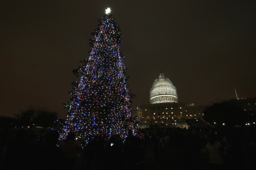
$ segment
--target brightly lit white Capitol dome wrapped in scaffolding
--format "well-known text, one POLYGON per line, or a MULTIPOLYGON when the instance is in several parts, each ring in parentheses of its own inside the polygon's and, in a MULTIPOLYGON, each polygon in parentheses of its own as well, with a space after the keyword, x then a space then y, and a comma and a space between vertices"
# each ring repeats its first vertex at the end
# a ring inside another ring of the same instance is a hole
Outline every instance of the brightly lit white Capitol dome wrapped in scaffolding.
POLYGON ((176 87, 161 72, 150 89, 150 104, 178 102, 176 87))

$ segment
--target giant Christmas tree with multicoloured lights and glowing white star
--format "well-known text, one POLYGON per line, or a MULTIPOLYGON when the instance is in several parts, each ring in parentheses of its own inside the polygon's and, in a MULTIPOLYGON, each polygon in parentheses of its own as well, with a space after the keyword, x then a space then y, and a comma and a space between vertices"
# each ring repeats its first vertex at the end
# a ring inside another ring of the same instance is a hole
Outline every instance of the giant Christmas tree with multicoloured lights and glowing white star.
POLYGON ((100 24, 90 38, 89 59, 73 73, 82 75, 73 82, 70 100, 64 105, 68 115, 61 134, 69 132, 88 144, 94 136, 107 140, 113 132, 126 137, 133 129, 131 101, 124 56, 120 51, 119 26, 114 22, 110 8, 100 19, 100 24))

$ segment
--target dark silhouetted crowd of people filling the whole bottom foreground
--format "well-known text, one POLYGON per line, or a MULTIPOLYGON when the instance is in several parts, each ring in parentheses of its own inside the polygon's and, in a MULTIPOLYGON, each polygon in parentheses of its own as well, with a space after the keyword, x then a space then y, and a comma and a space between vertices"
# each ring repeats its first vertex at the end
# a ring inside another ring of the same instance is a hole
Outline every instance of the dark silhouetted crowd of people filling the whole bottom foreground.
POLYGON ((112 133, 108 141, 94 137, 86 146, 70 133, 59 143, 59 132, 50 130, 29 133, 24 129, 8 137, 1 134, 1 168, 3 170, 73 170, 75 163, 82 170, 143 170, 147 160, 145 148, 154 153, 155 164, 180 157, 187 170, 203 170, 201 157, 208 157, 212 170, 254 169, 256 166, 255 129, 211 127, 163 127, 151 125, 128 131, 122 139, 112 133), (4 146, 4 147, 3 147, 4 146), (82 147, 83 146, 83 147, 82 147), (147 146, 147 147, 146 147, 147 146), (77 162, 77 155, 81 161, 77 162))

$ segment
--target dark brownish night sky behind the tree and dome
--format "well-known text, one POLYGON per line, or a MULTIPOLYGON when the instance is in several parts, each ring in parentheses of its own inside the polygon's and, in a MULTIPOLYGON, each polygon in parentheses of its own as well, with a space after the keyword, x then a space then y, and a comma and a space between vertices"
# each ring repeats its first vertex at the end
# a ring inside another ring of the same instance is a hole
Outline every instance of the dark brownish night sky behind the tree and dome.
POLYGON ((67 114, 73 68, 110 7, 133 107, 162 70, 179 102, 256 97, 255 0, 0 0, 0 115, 29 106, 67 114))

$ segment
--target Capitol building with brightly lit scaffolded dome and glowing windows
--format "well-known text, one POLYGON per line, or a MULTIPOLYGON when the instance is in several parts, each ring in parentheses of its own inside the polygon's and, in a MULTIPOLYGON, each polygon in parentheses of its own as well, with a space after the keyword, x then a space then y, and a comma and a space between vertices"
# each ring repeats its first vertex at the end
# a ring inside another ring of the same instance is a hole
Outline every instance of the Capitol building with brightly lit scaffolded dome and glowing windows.
POLYGON ((149 102, 132 110, 142 125, 186 127, 186 119, 200 119, 206 107, 178 102, 176 87, 162 72, 150 89, 149 102))

